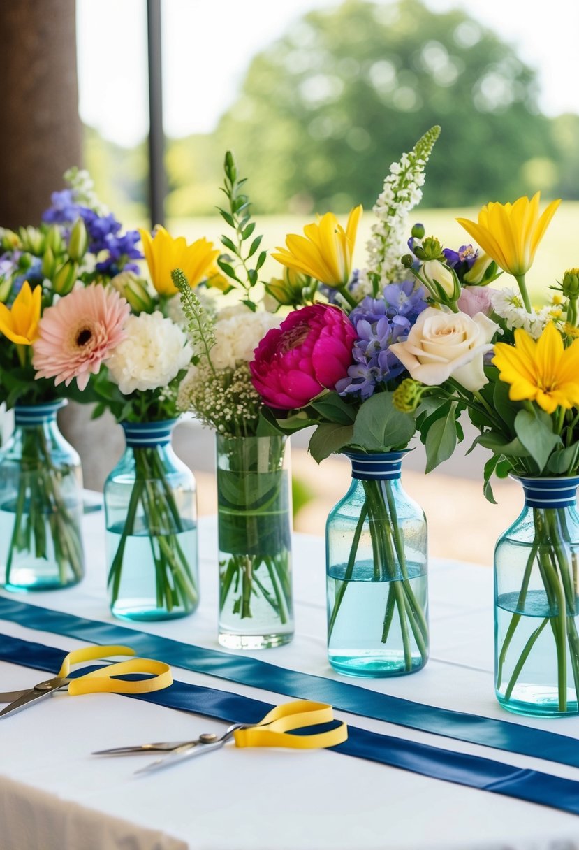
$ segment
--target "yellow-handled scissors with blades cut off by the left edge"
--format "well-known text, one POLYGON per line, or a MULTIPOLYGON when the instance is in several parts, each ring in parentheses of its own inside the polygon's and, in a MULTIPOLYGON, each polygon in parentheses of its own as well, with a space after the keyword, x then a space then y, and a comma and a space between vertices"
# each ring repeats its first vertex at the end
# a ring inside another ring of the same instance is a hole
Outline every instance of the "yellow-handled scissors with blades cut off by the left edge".
POLYGON ((58 674, 45 682, 39 682, 31 688, 0 694, 0 702, 9 702, 0 717, 8 717, 23 708, 34 706, 37 702, 52 696, 59 690, 68 689, 71 696, 77 694, 143 694, 145 691, 155 691, 168 688, 172 683, 171 669, 162 661, 149 658, 135 658, 129 661, 119 661, 116 664, 106 664, 98 670, 85 673, 82 676, 69 678, 70 666, 82 661, 108 658, 110 655, 135 655, 134 649, 128 646, 87 646, 75 649, 66 655, 58 674), (127 682, 118 679, 124 673, 152 673, 152 678, 127 682))

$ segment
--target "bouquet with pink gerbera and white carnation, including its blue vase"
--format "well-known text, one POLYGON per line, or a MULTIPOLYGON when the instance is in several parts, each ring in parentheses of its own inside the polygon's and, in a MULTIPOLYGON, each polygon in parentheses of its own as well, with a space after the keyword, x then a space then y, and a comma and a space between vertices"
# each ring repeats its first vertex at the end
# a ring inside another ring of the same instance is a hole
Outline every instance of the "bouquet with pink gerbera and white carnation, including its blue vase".
POLYGON ((138 232, 120 235, 121 225, 76 183, 53 195, 45 218, 63 230, 81 222, 93 263, 75 268, 69 291, 42 314, 36 376, 64 385, 72 399, 95 402, 94 416, 110 410, 126 435, 104 488, 111 609, 131 619, 187 614, 199 598, 195 489, 170 441, 192 352, 164 313, 171 300, 166 262, 169 254, 168 262, 187 265, 194 285, 216 252, 205 240, 187 246, 162 229, 155 239, 143 233, 153 288, 132 263, 142 257, 138 232))

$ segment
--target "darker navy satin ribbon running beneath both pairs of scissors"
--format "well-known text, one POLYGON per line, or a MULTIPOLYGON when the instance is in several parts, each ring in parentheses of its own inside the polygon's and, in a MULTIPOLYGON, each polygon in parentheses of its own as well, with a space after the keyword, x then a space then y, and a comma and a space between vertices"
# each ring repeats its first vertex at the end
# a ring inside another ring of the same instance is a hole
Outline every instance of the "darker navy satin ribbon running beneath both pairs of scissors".
MULTIPOLYGON (((54 673, 59 671, 65 655, 64 649, 54 649, 42 643, 30 643, 20 638, 0 635, 2 660, 54 673)), ((123 696, 212 717, 226 723, 257 723, 273 708, 261 700, 252 700, 213 688, 201 688, 199 685, 185 682, 174 682, 170 688, 150 694, 123 696)), ((0 720, 0 723, 7 722, 0 720)), ((91 741, 90 745, 98 744, 91 741)), ((368 732, 350 725, 348 740, 329 751, 379 762, 392 768, 402 768, 431 779, 441 779, 456 785, 466 785, 480 791, 491 791, 493 794, 579 814, 579 782, 536 770, 516 768, 489 758, 442 750, 419 744, 417 741, 368 732)))

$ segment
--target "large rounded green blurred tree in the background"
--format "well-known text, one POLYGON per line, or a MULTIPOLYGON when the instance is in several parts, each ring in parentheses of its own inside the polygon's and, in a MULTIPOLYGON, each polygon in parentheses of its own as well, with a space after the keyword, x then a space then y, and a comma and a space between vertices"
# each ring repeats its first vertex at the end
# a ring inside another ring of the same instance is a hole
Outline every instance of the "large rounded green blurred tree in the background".
POLYGON ((441 124, 424 203, 506 201, 528 191, 533 161, 554 183, 536 94, 534 71, 462 11, 346 0, 252 60, 216 140, 245 163, 261 211, 340 211, 369 207, 390 162, 441 124))

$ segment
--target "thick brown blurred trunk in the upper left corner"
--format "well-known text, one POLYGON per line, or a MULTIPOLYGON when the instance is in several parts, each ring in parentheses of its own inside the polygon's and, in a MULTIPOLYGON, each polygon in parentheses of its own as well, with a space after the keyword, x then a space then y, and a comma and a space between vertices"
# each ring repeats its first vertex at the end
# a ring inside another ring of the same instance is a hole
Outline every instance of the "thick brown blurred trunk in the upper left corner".
POLYGON ((71 165, 81 164, 75 0, 0 3, 0 223, 39 224, 71 165))

